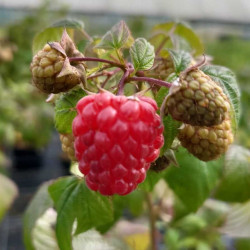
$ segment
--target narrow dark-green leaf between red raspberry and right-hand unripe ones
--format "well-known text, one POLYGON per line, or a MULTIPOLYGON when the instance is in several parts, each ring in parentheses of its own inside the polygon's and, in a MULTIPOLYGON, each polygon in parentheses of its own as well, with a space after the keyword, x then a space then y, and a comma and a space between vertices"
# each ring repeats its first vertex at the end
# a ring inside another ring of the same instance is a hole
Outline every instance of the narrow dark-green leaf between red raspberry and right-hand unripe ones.
POLYGON ((179 132, 179 127, 181 126, 181 122, 174 120, 170 115, 167 115, 163 119, 164 124, 164 145, 161 148, 161 153, 164 153, 167 149, 169 149, 175 137, 179 132))

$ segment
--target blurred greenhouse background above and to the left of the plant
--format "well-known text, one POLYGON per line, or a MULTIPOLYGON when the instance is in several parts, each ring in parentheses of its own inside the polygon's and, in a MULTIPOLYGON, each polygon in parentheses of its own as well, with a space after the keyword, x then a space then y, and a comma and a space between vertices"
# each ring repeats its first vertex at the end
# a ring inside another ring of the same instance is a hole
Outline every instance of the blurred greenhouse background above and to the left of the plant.
MULTIPOLYGON (((68 174, 69 162, 53 128, 53 107, 30 84, 29 71, 33 37, 65 17, 83 21, 90 35, 99 36, 123 19, 134 37, 146 38, 155 24, 187 22, 213 63, 236 73, 242 91, 236 143, 250 148, 249 1, 0 0, 0 173, 14 180, 19 190, 0 224, 1 250, 24 249, 21 216, 27 203, 42 182, 68 174)), ((11 190, 15 196, 17 190, 11 190)), ((227 249, 235 248, 229 244, 227 249)))

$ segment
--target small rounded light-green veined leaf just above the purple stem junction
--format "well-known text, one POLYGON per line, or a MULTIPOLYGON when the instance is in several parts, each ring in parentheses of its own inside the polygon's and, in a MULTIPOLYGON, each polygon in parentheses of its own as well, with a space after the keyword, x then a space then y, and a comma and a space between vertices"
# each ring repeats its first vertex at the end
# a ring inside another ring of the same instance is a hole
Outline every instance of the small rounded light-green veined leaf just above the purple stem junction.
POLYGON ((130 56, 135 71, 150 69, 154 64, 154 46, 144 38, 137 38, 130 48, 130 56))

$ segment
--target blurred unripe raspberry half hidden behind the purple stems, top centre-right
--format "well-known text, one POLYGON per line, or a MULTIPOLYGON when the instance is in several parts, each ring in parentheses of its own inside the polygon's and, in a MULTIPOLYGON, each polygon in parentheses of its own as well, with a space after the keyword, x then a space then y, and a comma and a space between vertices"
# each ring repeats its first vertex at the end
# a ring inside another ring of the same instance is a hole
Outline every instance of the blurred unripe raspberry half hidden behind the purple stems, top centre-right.
POLYGON ((165 80, 173 72, 175 72, 173 60, 171 57, 167 57, 155 59, 153 68, 145 74, 148 77, 165 80))

